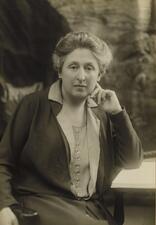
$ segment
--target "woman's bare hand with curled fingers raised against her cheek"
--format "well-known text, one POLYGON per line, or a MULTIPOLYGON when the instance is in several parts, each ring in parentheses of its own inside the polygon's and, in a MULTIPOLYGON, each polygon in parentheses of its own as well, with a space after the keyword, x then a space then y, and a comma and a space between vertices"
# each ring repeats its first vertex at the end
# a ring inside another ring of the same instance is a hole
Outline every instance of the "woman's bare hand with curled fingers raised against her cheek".
POLYGON ((103 89, 98 83, 90 97, 95 99, 96 103, 100 105, 107 113, 117 114, 122 111, 115 92, 112 90, 103 89))

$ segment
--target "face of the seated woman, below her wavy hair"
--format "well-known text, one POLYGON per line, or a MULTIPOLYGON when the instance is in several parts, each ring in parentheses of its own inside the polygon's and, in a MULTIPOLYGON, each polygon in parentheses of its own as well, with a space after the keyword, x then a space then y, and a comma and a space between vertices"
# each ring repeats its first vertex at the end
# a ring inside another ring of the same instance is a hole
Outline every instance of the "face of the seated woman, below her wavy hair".
POLYGON ((65 99, 84 100, 100 79, 99 65, 89 49, 78 48, 65 58, 62 71, 62 93, 65 99))

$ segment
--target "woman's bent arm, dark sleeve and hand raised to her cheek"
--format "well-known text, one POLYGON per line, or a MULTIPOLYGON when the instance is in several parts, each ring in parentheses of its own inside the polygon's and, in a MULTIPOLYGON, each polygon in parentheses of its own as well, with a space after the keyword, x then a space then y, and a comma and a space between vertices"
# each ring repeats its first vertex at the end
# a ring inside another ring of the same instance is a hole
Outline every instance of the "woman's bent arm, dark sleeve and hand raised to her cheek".
POLYGON ((116 93, 102 89, 97 84, 91 97, 96 98, 98 105, 103 108, 111 120, 115 164, 123 168, 139 167, 143 159, 142 145, 116 93))

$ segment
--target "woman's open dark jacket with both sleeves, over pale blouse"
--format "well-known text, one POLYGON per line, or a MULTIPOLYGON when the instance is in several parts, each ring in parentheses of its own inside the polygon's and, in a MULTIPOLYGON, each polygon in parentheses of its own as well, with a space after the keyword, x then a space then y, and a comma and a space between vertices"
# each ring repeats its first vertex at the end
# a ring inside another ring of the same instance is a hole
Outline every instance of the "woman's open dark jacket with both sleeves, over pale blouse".
MULTIPOLYGON (((25 97, 17 107, 0 144, 0 208, 16 203, 19 194, 41 193, 73 197, 69 152, 60 132, 57 102, 48 90, 25 97)), ((142 160, 140 140, 125 110, 108 115, 92 108, 100 119, 100 162, 97 195, 111 185, 121 168, 142 160)))

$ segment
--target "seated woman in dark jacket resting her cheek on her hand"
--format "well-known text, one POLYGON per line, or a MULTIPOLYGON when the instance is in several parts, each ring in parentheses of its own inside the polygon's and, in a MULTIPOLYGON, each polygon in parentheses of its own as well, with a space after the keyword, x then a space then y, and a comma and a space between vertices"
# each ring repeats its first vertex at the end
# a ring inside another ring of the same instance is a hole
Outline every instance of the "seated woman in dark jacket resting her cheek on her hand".
POLYGON ((89 33, 59 41, 59 79, 21 101, 1 141, 0 224, 18 224, 16 204, 36 210, 38 225, 113 224, 103 196, 142 149, 115 92, 98 84, 111 59, 89 33))

